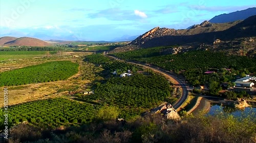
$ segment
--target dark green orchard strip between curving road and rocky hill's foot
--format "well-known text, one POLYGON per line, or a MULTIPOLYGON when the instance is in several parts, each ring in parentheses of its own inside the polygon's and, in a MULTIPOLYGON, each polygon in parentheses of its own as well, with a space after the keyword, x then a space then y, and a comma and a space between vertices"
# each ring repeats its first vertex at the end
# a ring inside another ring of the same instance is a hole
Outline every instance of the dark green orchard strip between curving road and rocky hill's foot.
MULTIPOLYGON (((157 52, 150 52, 158 48, 135 50, 116 53, 118 58, 152 63, 167 70, 180 71, 195 68, 247 68, 256 71, 256 59, 247 56, 227 55, 224 52, 191 51, 183 54, 168 54, 157 56, 157 52)), ((158 50, 161 52, 161 50, 158 50)))

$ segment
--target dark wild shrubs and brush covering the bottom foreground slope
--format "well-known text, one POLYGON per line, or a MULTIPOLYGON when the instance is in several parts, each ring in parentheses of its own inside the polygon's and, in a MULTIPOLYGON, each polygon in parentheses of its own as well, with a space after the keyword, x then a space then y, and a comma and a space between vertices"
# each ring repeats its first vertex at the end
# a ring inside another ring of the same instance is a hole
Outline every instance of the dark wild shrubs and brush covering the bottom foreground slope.
MULTIPOLYGON (((107 110, 105 110, 107 111, 107 110)), ((182 122, 170 122, 161 115, 147 115, 131 122, 108 120, 81 127, 43 130, 20 125, 11 131, 9 143, 30 141, 66 143, 129 143, 129 142, 248 142, 256 141, 255 114, 234 117, 226 113, 215 116, 185 117, 182 122)))

